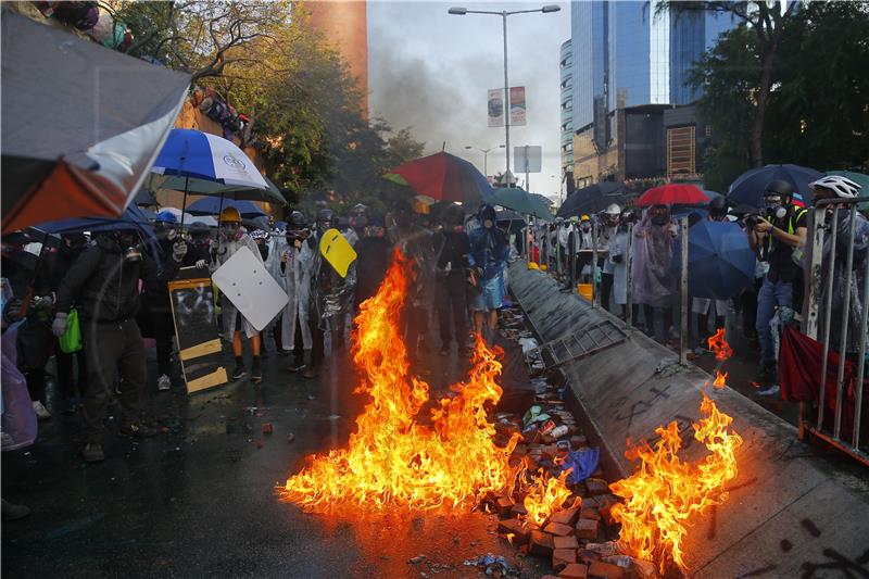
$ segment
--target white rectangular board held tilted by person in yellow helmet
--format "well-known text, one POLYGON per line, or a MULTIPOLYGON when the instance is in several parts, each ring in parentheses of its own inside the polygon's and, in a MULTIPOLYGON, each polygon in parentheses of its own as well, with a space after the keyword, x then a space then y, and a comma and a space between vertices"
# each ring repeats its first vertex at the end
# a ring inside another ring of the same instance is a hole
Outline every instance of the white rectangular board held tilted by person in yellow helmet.
POLYGON ((275 319, 289 301, 287 292, 248 248, 234 253, 214 272, 212 279, 256 331, 275 319))

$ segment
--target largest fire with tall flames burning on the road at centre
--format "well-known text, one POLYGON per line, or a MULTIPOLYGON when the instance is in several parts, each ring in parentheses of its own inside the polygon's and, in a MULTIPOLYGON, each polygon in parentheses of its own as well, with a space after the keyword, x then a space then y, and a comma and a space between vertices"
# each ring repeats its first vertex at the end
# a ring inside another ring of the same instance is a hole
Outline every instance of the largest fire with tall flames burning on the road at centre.
POLYGON ((368 508, 470 511, 490 491, 515 477, 508 464, 518 436, 494 444, 484 406, 501 399, 501 364, 478 338, 466 381, 424 412, 429 386, 412 376, 399 331, 407 278, 395 252, 377 294, 356 317, 353 360, 363 378, 357 392, 370 397, 347 449, 310 456, 307 466, 278 488, 281 499, 312 509, 335 504, 368 508), (426 416, 430 414, 430 416, 426 416))

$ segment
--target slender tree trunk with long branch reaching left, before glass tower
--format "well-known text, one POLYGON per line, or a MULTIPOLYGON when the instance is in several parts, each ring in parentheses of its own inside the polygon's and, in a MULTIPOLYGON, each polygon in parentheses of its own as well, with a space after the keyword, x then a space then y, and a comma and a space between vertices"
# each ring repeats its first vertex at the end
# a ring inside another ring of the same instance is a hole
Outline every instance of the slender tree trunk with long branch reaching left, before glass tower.
POLYGON ((764 165, 764 125, 767 117, 769 96, 774 78, 774 62, 781 38, 793 21, 798 2, 766 1, 665 1, 657 5, 657 14, 668 11, 678 17, 685 13, 722 12, 730 13, 748 25, 754 35, 754 52, 758 58, 759 75, 753 92, 753 111, 750 128, 750 159, 752 166, 764 165))

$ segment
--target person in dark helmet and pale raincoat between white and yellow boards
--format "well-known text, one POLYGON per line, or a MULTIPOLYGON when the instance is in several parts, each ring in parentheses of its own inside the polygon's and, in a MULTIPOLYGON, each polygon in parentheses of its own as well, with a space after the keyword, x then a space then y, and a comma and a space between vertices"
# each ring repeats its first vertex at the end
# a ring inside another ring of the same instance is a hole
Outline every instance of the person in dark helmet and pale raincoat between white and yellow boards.
POLYGON ((282 286, 289 297, 280 318, 281 348, 288 354, 295 351, 295 330, 299 329, 302 357, 290 364, 290 372, 303 369, 306 378, 314 377, 314 339, 308 322, 314 250, 306 243, 310 234, 304 214, 293 211, 287 222, 287 244, 280 256, 282 286))

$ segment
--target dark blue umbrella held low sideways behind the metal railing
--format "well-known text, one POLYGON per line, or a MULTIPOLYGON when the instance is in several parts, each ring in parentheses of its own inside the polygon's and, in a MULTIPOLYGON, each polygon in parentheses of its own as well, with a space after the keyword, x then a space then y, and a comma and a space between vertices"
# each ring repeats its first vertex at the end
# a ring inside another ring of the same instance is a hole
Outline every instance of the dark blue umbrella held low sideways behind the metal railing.
MULTIPOLYGON (((679 275, 681 238, 671 268, 679 275)), ((755 253, 734 223, 702 221, 688 230, 688 293, 728 300, 754 282, 755 253)))

